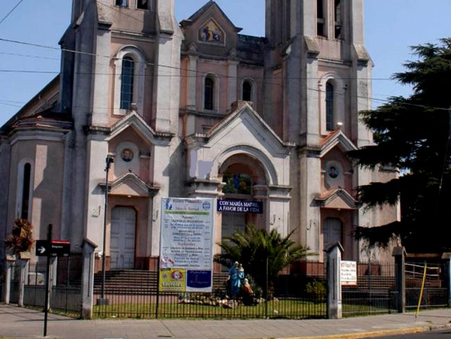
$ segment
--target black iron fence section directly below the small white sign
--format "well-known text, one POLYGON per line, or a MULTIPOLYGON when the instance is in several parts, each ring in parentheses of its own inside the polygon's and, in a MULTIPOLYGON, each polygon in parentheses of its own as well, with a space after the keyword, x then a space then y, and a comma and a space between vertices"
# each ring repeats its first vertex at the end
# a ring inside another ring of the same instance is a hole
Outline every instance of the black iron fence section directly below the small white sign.
POLYGON ((342 303, 345 317, 396 312, 395 264, 358 263, 357 285, 343 286, 342 303))

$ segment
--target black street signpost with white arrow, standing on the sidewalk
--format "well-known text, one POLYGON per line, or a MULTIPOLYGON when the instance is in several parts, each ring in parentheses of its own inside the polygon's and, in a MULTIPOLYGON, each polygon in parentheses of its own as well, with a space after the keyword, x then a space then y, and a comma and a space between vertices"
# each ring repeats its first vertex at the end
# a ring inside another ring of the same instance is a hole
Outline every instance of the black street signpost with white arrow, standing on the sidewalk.
POLYGON ((52 224, 49 224, 47 230, 47 240, 36 240, 36 256, 46 256, 46 289, 45 289, 45 306, 44 306, 44 337, 47 336, 47 318, 49 315, 49 295, 50 295, 50 258, 69 256, 71 243, 66 240, 52 240, 52 224))

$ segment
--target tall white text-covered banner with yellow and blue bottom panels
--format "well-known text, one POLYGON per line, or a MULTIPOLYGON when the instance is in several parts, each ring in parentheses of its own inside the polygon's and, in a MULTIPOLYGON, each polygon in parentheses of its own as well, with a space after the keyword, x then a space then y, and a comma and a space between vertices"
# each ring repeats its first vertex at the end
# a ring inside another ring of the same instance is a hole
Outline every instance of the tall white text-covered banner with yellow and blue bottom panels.
POLYGON ((212 292, 212 199, 162 198, 160 291, 212 292))

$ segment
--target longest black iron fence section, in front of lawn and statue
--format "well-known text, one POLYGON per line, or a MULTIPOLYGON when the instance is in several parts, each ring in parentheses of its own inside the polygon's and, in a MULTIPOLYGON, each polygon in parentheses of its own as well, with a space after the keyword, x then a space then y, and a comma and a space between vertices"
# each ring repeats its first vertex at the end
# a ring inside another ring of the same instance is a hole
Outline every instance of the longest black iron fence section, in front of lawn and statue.
MULTIPOLYGON (((227 274, 214 274, 213 292, 158 292, 156 272, 109 272, 105 284, 108 304, 94 306, 95 317, 137 318, 322 318, 326 316, 324 276, 304 279, 282 275, 272 297, 262 290, 236 299, 227 296, 227 274), (297 286, 296 292, 293 292, 297 286)), ((98 281, 98 280, 96 280, 98 281)), ((96 286, 99 286, 96 283, 96 286)), ((100 297, 96 287, 96 297, 100 297)))

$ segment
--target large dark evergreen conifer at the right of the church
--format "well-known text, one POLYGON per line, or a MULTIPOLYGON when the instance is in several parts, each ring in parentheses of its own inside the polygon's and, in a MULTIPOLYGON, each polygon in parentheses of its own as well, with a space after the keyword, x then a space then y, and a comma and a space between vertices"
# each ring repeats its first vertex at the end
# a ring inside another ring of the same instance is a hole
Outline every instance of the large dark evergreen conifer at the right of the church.
POLYGON ((411 47, 416 60, 393 75, 411 85, 409 97, 391 97, 375 110, 360 113, 373 131, 374 145, 351 151, 362 167, 395 167, 400 176, 386 183, 358 188, 368 207, 400 201, 401 221, 375 228, 357 227, 357 238, 370 245, 386 245, 400 238, 407 251, 449 249, 447 225, 451 206, 451 38, 439 44, 411 47))

